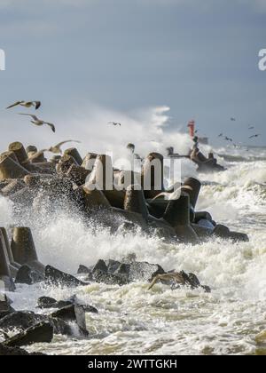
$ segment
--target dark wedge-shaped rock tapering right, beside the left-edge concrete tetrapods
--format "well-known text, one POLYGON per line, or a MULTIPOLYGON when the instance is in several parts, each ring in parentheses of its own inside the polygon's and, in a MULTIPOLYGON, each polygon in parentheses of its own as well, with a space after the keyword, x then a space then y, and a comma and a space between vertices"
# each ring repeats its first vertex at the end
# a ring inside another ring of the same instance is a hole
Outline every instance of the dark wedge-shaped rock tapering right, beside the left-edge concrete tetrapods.
POLYGON ((57 286, 86 286, 88 283, 78 280, 71 274, 65 274, 59 269, 54 268, 53 266, 45 267, 45 281, 49 284, 54 284, 57 286))

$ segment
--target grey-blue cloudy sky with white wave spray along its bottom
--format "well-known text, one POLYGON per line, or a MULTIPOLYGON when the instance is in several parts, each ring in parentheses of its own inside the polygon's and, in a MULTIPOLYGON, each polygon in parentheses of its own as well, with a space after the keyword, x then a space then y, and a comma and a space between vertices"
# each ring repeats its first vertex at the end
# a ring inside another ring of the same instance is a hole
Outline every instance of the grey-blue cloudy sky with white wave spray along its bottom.
POLYGON ((66 138, 84 150, 141 140, 179 149, 191 119, 211 143, 223 132, 266 145, 265 36, 266 0, 1 0, 0 150, 66 138), (56 134, 17 115, 23 107, 5 110, 20 99, 42 100, 38 115, 56 134))

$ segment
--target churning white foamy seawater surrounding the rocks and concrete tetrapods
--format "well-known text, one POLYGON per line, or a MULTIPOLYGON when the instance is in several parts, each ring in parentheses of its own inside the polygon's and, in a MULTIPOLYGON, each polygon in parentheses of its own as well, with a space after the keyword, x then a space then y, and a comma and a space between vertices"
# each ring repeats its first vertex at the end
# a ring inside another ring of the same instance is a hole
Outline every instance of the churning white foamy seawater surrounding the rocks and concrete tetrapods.
POLYGON ((205 294, 201 290, 172 291, 161 284, 148 291, 146 283, 123 287, 92 283, 73 290, 42 284, 20 286, 10 294, 16 309, 36 311, 36 300, 43 295, 64 299, 76 294, 99 311, 87 314, 89 340, 56 336, 51 345, 34 345, 28 350, 57 354, 266 353, 266 333, 262 333, 266 329, 266 160, 248 161, 224 161, 228 171, 200 175, 204 187, 198 210, 208 210, 216 221, 246 232, 250 242, 169 245, 140 232, 110 234, 93 222, 86 226, 74 210, 51 215, 31 211, 20 216, 0 197, 0 224, 31 226, 44 264, 74 274, 80 264, 91 266, 98 258, 120 259, 134 252, 138 260, 159 263, 165 270, 193 272, 212 288, 211 294, 205 294))

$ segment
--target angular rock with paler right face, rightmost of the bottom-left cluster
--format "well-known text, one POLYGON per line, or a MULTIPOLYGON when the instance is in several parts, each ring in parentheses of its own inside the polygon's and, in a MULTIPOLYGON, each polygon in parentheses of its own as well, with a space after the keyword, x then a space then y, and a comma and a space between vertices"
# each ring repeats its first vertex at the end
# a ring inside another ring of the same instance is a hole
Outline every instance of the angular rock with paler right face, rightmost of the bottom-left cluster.
POLYGON ((77 323, 80 333, 84 337, 89 336, 89 332, 86 329, 85 313, 82 306, 66 306, 59 309, 59 311, 51 313, 51 317, 62 319, 63 321, 74 321, 77 323))

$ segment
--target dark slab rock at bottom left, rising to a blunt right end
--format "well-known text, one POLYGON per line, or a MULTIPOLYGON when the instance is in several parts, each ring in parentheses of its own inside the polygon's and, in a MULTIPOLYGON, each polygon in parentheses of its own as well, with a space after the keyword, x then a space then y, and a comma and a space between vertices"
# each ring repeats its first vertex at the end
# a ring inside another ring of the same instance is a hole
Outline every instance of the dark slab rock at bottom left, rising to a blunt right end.
POLYGON ((20 347, 35 343, 51 343, 53 338, 53 325, 50 322, 40 322, 35 326, 4 341, 4 345, 20 347))

